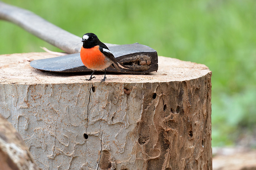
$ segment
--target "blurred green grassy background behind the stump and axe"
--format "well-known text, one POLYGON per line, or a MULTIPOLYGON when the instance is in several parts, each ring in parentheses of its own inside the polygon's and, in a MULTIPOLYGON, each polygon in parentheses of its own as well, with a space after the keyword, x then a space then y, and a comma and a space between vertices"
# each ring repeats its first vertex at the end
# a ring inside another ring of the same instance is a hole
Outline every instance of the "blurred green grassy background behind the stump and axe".
MULTIPOLYGON (((212 70, 212 146, 256 147, 254 0, 2 0, 82 37, 141 43, 212 70)), ((59 49, 0 21, 0 54, 59 49)))

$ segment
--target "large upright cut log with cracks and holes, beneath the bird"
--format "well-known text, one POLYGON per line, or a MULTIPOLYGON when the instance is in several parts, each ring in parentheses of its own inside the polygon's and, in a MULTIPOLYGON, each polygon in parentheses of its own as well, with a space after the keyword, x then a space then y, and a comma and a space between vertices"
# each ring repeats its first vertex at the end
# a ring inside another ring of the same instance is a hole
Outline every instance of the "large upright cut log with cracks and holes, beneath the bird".
POLYGON ((38 166, 83 170, 212 169, 211 71, 159 57, 146 75, 42 72, 48 53, 0 56, 0 113, 38 166))

